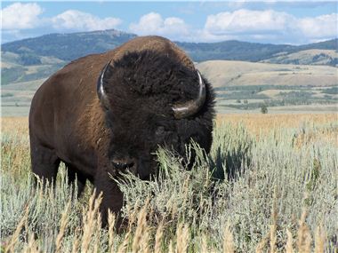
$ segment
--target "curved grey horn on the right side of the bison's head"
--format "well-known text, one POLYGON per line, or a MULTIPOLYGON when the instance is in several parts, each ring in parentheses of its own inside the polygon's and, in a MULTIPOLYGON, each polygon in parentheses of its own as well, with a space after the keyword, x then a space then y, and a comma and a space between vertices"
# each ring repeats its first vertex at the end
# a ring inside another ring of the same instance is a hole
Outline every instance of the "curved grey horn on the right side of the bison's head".
POLYGON ((189 117, 191 115, 196 115, 201 107, 205 104, 205 82, 203 82, 201 74, 197 70, 198 80, 199 80, 199 91, 197 99, 190 100, 185 104, 174 105, 173 106, 173 115, 176 119, 182 119, 189 117))

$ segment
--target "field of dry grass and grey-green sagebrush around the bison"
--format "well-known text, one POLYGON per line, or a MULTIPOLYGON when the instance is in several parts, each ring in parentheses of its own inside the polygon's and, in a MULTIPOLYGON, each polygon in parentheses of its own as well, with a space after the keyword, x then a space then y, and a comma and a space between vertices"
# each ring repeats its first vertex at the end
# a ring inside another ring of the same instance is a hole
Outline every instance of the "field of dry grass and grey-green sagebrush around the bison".
POLYGON ((65 170, 55 190, 33 187, 28 119, 2 118, 2 251, 337 252, 337 114, 219 115, 211 154, 190 148, 190 171, 160 149, 158 178, 125 176, 117 233, 65 170))

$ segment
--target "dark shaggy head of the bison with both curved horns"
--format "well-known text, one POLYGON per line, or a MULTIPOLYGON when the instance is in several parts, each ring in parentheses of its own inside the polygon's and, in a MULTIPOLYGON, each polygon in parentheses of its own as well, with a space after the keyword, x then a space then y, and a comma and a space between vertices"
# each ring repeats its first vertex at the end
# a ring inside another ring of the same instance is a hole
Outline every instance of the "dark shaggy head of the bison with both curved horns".
POLYGON ((98 95, 111 130, 108 155, 115 169, 149 178, 156 172, 158 146, 183 155, 191 139, 209 152, 212 88, 196 69, 174 57, 127 53, 102 69, 98 95))

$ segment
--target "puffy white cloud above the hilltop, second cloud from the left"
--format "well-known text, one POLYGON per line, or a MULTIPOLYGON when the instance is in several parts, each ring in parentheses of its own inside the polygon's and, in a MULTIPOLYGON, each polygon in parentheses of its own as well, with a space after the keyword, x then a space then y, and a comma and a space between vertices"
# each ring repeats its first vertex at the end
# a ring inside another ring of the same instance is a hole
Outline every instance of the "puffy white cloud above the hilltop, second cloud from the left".
POLYGON ((117 18, 104 18, 86 12, 68 10, 52 18, 52 27, 59 30, 91 31, 116 28, 122 20, 117 18))

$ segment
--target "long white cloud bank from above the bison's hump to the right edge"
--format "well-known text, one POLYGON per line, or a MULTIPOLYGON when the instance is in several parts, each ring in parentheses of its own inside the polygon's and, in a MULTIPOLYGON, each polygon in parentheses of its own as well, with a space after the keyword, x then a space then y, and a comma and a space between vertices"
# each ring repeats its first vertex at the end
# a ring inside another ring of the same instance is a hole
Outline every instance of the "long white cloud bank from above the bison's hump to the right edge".
POLYGON ((173 40, 217 42, 223 40, 262 43, 310 43, 337 35, 337 14, 297 18, 274 10, 239 9, 207 16, 204 28, 192 29, 179 18, 163 18, 150 12, 129 26, 133 33, 166 36, 173 40))

